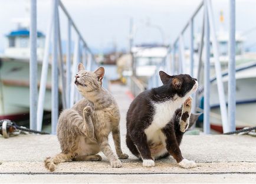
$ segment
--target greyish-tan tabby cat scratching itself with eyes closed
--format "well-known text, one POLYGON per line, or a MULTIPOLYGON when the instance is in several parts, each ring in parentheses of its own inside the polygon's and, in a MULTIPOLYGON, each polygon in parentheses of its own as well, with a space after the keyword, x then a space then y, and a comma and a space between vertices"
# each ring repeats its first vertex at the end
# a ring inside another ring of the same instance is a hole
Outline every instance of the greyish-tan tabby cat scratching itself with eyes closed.
POLYGON ((57 136, 61 153, 45 159, 45 167, 55 170, 58 163, 68 160, 101 160, 100 151, 110 160, 112 167, 121 167, 119 159, 127 159, 120 146, 120 113, 114 97, 102 87, 104 68, 90 72, 78 65, 74 83, 83 99, 71 109, 64 110, 58 119, 57 136), (112 133, 116 154, 109 145, 112 133))

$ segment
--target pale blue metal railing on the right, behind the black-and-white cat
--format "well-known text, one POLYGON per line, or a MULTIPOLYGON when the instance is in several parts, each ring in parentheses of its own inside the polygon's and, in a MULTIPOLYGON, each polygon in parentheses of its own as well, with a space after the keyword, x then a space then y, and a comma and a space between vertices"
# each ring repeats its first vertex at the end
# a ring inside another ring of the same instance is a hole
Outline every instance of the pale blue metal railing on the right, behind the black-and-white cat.
MULTIPOLYGON (((201 70, 202 70, 202 51, 203 47, 205 50, 205 58, 204 58, 204 133, 210 133, 210 122, 209 122, 209 113, 210 113, 210 36, 212 38, 212 49, 214 54, 214 65, 215 65, 215 73, 216 73, 216 81, 218 86, 218 95, 219 95, 219 104, 221 109, 221 119, 224 133, 231 132, 235 130, 235 0, 229 0, 229 79, 228 79, 228 111, 225 101, 224 95, 224 84, 222 82, 222 71, 221 64, 219 61, 219 47, 216 38, 215 24, 214 24, 214 14, 212 11, 212 3, 211 0, 202 1, 198 8, 196 8, 195 12, 193 12, 192 16, 189 18, 185 27, 179 33, 176 40, 173 44, 170 45, 168 49, 168 54, 165 57, 165 62, 162 63, 159 67, 157 67, 157 73, 153 75, 148 83, 149 87, 160 86, 158 71, 161 68, 165 68, 167 72, 170 74, 180 74, 185 71, 185 46, 183 36, 187 29, 190 29, 190 72, 193 77, 195 74, 193 72, 194 69, 194 19, 198 12, 204 7, 203 14, 203 24, 202 24, 202 33, 201 33, 201 42, 199 45, 199 58, 198 58, 198 76, 196 76, 201 81, 201 70), (178 52, 178 56, 176 54, 178 52), (169 61, 169 58, 171 60, 169 61)), ((198 96, 195 94, 195 100, 197 101, 198 96)), ((193 103, 193 110, 196 109, 195 103, 193 103)))

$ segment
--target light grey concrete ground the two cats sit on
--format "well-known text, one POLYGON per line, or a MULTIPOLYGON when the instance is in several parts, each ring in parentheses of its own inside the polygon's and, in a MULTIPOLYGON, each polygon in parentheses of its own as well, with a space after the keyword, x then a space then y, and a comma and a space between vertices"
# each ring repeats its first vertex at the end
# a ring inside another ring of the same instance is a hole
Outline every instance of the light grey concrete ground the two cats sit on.
MULTIPOLYGON (((132 99, 126 87, 111 87, 122 116, 122 148, 130 156, 122 160, 123 167, 112 168, 101 154, 101 162, 61 163, 51 173, 42 161, 60 152, 56 136, 0 137, 0 183, 255 183, 256 139, 251 136, 184 136, 183 157, 195 160, 197 167, 182 169, 172 157, 142 167, 125 144, 125 115, 132 99)), ((111 137, 110 144, 113 147, 111 137)))

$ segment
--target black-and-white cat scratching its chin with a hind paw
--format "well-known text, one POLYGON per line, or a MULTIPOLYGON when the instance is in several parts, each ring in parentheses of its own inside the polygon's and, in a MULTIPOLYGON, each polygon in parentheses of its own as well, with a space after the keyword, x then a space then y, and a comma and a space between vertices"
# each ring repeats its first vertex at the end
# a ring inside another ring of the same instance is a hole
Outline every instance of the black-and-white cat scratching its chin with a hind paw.
POLYGON ((179 149, 183 133, 189 127, 192 98, 198 81, 190 75, 170 76, 159 72, 163 86, 140 93, 127 111, 126 143, 143 166, 155 166, 155 159, 172 155, 178 165, 195 167, 179 149))

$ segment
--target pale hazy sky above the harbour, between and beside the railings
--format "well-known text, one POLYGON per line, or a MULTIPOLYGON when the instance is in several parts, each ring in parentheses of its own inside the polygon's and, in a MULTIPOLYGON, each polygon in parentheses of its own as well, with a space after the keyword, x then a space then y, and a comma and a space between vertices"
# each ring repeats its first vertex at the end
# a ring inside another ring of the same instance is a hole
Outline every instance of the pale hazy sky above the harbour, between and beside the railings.
MULTIPOLYGON (((96 51, 113 48, 129 48, 130 19, 133 19, 134 44, 170 44, 188 22, 201 0, 62 0, 88 46, 96 51)), ((228 30, 228 0, 212 1, 215 25, 218 30, 219 12, 224 11, 224 29, 228 30)), ((256 1, 236 1, 238 32, 245 35, 245 47, 256 51, 256 1), (254 28, 254 29, 252 29, 254 28), (253 31, 248 31, 252 29, 253 31)), ((0 52, 5 48, 6 38, 12 29, 17 28, 15 18, 29 17, 26 11, 28 0, 0 0, 0 52)), ((51 0, 37 0, 37 27, 46 33, 51 12, 51 0)), ((67 38, 67 18, 60 11, 61 37, 67 38)), ((195 19, 195 34, 201 32, 202 10, 195 19)), ((73 40, 76 35, 72 34, 73 40)), ((189 44, 189 31, 185 32, 185 45, 189 44)))

